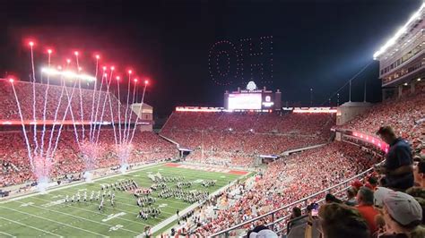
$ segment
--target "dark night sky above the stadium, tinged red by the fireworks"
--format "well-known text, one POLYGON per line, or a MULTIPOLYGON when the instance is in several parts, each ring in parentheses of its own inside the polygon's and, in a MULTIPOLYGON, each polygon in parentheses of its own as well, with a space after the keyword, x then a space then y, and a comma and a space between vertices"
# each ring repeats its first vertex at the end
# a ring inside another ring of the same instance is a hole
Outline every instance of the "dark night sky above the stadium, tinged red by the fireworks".
MULTIPOLYGON (((212 81, 209 51, 215 42, 273 36, 273 79, 267 69, 257 86, 281 89, 283 105, 327 106, 333 95, 392 37, 418 9, 421 0, 293 1, 2 1, 0 5, 0 76, 28 79, 26 38, 36 38, 36 60, 56 49, 54 64, 63 64, 74 49, 83 64, 100 52, 106 64, 124 72, 132 66, 152 79, 146 103, 157 115, 174 106, 222 106, 224 90, 244 88, 240 77, 212 81)), ((41 60, 39 60, 41 62, 41 60)), ((226 60, 221 58, 223 66, 226 60)), ((87 68, 91 68, 87 66, 87 68)), ((233 64, 231 64, 234 69, 233 64)), ((380 99, 378 64, 373 62, 353 81, 352 100, 380 99)), ((348 89, 340 92, 348 99, 348 89)), ((336 104, 336 97, 332 98, 336 104)))

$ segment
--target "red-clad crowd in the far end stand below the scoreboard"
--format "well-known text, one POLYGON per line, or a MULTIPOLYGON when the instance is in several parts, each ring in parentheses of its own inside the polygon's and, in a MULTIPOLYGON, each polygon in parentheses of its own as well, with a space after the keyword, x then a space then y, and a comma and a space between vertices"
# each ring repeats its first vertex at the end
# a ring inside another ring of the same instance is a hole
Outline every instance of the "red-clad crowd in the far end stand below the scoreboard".
POLYGON ((161 134, 193 149, 188 160, 247 166, 253 155, 325 143, 334 122, 334 115, 328 114, 174 112, 161 134))

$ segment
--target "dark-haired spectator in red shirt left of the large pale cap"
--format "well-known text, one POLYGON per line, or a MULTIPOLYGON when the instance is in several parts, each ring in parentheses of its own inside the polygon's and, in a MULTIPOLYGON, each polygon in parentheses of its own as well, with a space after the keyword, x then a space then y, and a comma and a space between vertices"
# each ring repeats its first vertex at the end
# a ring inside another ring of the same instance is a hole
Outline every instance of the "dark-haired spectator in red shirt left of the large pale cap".
POLYGON ((370 234, 376 234, 377 222, 375 217, 377 217, 379 211, 373 207, 373 191, 367 187, 360 187, 356 199, 359 203, 356 208, 359 210, 361 217, 368 223, 370 234))

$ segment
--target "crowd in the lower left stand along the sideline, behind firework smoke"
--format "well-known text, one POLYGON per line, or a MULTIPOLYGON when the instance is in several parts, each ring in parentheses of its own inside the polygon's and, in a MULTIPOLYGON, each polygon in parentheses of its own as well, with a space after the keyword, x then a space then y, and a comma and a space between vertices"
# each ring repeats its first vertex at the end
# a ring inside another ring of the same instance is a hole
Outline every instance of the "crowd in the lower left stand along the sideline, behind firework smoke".
MULTIPOLYGON (((77 132, 81 138, 82 132, 77 132)), ((38 133, 40 134, 40 133, 38 133)), ((31 151, 34 151, 32 133, 28 133, 31 151)), ((39 136, 40 138, 40 136, 39 136)), ((48 136, 45 138, 45 149, 48 149, 48 136)), ((119 166, 120 160, 112 130, 102 130, 98 146, 91 145, 96 150, 97 158, 92 169, 119 166)), ((22 132, 0 133, 0 143, 7 145, 0 149, 0 187, 13 184, 32 182, 36 180, 30 167, 28 150, 22 132)), ((39 140, 40 144, 40 140, 39 140)), ((177 156, 177 149, 171 143, 160 138, 153 132, 136 132, 133 140, 133 150, 128 157, 128 164, 148 163, 177 156)), ((54 145, 52 145, 52 148, 54 145)), ((49 176, 52 178, 66 174, 78 174, 86 170, 82 149, 79 148, 74 131, 63 131, 53 156, 49 176)))

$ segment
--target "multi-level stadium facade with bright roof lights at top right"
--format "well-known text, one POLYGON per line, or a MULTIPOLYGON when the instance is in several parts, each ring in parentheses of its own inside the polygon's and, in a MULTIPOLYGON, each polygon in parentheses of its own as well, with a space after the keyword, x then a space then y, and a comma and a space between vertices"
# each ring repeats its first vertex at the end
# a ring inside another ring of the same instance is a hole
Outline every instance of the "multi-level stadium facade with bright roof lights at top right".
POLYGON ((423 87, 425 3, 373 56, 379 61, 383 100, 401 98, 423 87))

